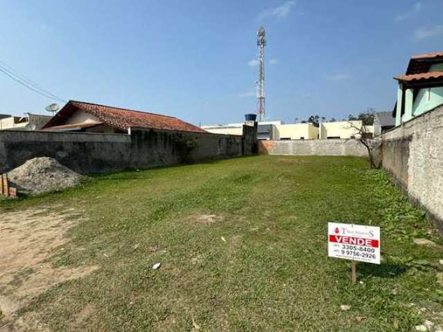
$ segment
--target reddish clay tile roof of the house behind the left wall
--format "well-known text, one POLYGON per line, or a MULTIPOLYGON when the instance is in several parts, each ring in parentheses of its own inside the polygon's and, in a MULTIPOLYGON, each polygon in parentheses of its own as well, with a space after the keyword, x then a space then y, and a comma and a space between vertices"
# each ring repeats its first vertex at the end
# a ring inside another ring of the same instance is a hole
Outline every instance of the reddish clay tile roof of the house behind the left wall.
POLYGON ((64 124, 60 122, 69 118, 75 109, 81 109, 86 113, 96 116, 101 122, 122 131, 127 131, 130 127, 135 127, 172 131, 194 131, 200 133, 206 132, 204 129, 172 116, 162 116, 155 113, 133 111, 131 109, 91 104, 89 102, 78 102, 75 100, 70 100, 68 104, 55 115, 53 120, 46 124, 45 128, 64 124))

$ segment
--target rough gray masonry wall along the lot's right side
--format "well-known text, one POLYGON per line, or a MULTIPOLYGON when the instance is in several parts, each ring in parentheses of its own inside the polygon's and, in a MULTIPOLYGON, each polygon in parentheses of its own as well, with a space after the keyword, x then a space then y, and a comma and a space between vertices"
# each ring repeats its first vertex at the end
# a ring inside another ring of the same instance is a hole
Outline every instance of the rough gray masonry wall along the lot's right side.
POLYGON ((383 168, 443 232, 443 106, 381 135, 383 168))

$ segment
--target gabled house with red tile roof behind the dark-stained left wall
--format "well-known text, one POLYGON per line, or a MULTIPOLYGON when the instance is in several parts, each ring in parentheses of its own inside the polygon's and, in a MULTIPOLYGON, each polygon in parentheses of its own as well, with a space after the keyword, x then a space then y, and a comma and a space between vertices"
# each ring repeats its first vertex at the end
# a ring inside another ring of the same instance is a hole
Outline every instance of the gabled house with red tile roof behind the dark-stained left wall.
POLYGON ((44 131, 127 133, 129 128, 206 133, 193 124, 156 113, 69 100, 44 126, 44 131))

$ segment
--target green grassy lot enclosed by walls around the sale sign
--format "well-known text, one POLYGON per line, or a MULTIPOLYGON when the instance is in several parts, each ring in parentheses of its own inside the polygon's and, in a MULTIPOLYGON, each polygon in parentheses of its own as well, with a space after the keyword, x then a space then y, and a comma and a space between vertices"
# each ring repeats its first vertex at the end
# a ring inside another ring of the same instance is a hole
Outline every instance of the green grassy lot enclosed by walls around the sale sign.
POLYGON ((54 266, 100 266, 24 309, 53 331, 411 331, 443 324, 431 225, 367 161, 256 156, 94 177, 0 201, 87 216, 54 266), (208 216, 213 215, 213 216, 208 216), (381 266, 327 258, 327 222, 382 228, 381 266), (159 270, 152 264, 161 263, 159 270), (340 306, 351 306, 342 311, 340 306), (73 327, 78 313, 93 314, 73 327))

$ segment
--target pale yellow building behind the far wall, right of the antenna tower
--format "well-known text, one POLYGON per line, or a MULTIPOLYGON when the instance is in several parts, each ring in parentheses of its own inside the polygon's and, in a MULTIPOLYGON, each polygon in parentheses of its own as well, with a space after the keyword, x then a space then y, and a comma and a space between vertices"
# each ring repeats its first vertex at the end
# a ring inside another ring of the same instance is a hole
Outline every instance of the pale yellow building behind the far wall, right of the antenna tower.
MULTIPOLYGON (((320 124, 320 139, 334 138, 360 138, 359 128, 363 126, 362 121, 336 121, 322 122, 320 124)), ((374 133, 374 126, 365 126, 368 133, 374 133)))

